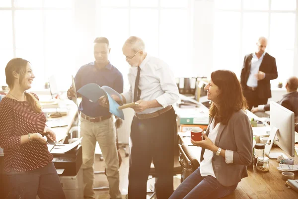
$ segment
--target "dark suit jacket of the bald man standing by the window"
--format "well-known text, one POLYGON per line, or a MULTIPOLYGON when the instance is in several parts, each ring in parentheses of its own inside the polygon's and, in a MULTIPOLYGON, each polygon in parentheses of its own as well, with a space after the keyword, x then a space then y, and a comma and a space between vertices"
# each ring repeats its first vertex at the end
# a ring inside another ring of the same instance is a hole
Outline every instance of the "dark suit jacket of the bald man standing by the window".
MULTIPOLYGON (((247 87, 246 83, 250 73, 252 56, 253 54, 251 53, 251 54, 245 55, 244 57, 243 67, 241 70, 241 77, 240 77, 240 83, 243 90, 245 90, 247 87)), ((275 58, 269 55, 268 53, 265 53, 262 63, 260 65, 259 71, 264 72, 266 75, 263 80, 258 81, 258 90, 257 90, 258 96, 259 98, 262 98, 262 99, 271 98, 270 80, 274 80, 278 76, 275 58)))

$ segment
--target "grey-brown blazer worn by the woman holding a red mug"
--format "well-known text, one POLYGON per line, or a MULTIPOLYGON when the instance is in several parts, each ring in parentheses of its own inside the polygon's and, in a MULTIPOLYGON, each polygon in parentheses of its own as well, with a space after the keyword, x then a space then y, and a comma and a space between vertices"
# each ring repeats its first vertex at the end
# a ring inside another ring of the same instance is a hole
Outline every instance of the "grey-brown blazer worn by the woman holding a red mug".
MULTIPOLYGON (((212 123, 213 118, 210 121, 212 123)), ((206 135, 209 134, 209 127, 206 135)), ((243 110, 235 112, 226 125, 220 124, 215 145, 222 149, 233 151, 233 163, 226 164, 222 156, 215 153, 212 158, 214 174, 225 187, 236 185, 242 178, 247 177, 246 166, 252 161, 252 128, 243 110)), ((205 149, 202 148, 201 161, 205 149)))

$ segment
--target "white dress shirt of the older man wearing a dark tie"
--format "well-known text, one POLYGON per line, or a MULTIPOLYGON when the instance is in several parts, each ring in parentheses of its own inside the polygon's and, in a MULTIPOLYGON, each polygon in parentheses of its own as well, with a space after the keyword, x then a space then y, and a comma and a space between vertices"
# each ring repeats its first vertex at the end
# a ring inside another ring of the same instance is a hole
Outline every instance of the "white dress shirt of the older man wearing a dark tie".
MULTIPOLYGON (((138 114, 155 112, 175 103, 179 99, 179 91, 174 75, 164 61, 147 54, 146 58, 140 64, 140 68, 140 100, 157 100, 161 106, 148 108, 142 112, 138 112, 138 114)), ((137 73, 138 67, 130 68, 128 73, 130 89, 128 92, 123 93, 126 103, 133 102, 137 73)))

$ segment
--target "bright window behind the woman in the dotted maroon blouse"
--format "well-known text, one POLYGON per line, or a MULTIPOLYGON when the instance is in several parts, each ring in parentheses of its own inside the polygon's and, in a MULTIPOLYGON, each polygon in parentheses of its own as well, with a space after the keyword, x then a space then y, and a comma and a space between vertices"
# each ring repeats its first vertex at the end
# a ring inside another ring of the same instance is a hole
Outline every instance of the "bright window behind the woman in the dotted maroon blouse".
POLYGON ((73 0, 1 0, 0 1, 0 85, 6 85, 4 67, 13 57, 30 61, 36 76, 32 87, 42 89, 55 74, 63 85, 65 74, 73 67, 73 0), (8 8, 8 9, 7 9, 8 8), (4 31, 3 31, 4 30, 4 31))

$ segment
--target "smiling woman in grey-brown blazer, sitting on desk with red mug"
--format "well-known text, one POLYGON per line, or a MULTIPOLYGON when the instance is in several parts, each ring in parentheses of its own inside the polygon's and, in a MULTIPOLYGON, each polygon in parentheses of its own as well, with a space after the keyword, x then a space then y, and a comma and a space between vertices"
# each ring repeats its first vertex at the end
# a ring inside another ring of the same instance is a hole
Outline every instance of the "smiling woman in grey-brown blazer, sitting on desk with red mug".
POLYGON ((252 128, 245 113, 247 103, 236 75, 214 71, 205 87, 212 117, 202 147, 200 167, 187 177, 169 199, 222 198, 231 194, 252 161, 252 128))

